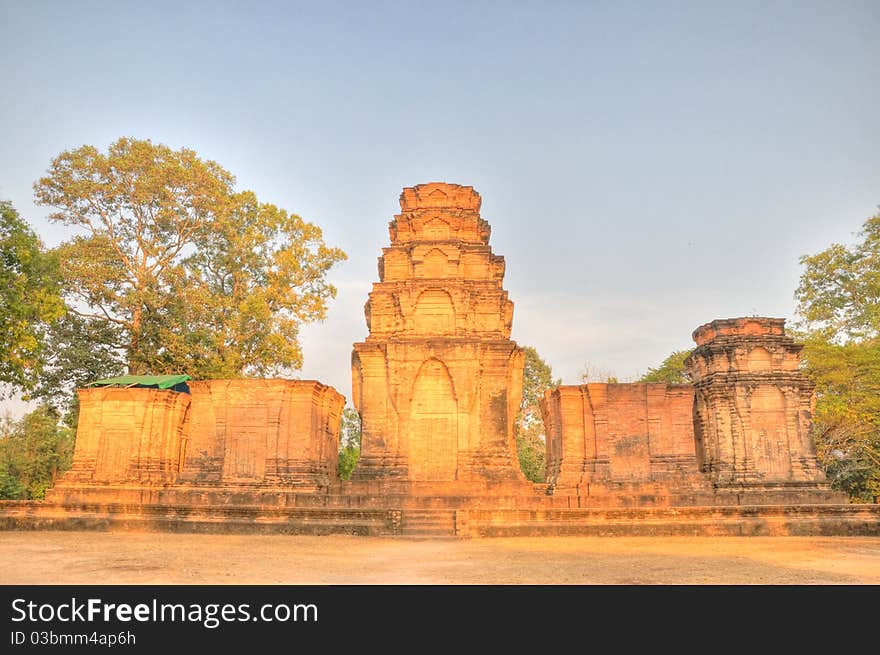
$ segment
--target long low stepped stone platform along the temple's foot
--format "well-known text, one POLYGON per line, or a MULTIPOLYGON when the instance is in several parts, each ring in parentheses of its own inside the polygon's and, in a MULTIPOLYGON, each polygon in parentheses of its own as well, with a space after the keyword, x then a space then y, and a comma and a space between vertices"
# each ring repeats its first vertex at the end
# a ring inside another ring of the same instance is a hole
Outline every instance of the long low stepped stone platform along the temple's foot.
MULTIPOLYGON (((485 500, 369 498, 327 505, 173 505, 0 502, 2 530, 136 530, 243 534, 351 534, 412 538, 511 536, 880 536, 880 505, 481 507, 485 500), (463 509, 461 505, 470 505, 463 509)), ((294 501, 296 502, 296 501, 294 501)))

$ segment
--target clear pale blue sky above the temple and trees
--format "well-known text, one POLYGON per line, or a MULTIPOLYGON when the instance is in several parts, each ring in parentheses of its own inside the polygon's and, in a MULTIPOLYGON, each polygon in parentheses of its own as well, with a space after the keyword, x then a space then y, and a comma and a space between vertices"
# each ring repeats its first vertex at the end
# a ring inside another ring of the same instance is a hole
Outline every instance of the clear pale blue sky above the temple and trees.
POLYGON ((130 135, 187 146, 350 259, 304 377, 351 344, 404 186, 473 185, 514 338, 623 378, 713 318, 791 317, 798 257, 880 203, 880 3, 0 0, 0 196, 130 135))

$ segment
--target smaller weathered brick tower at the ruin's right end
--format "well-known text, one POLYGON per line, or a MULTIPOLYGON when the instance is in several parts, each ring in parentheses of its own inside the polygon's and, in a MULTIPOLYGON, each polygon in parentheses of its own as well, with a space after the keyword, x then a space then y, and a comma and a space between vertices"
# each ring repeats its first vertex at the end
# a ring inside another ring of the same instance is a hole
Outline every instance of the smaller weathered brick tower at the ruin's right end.
POLYGON ((716 487, 828 490, 809 434, 813 385, 784 326, 781 318, 719 319, 693 333, 685 365, 697 461, 716 487))

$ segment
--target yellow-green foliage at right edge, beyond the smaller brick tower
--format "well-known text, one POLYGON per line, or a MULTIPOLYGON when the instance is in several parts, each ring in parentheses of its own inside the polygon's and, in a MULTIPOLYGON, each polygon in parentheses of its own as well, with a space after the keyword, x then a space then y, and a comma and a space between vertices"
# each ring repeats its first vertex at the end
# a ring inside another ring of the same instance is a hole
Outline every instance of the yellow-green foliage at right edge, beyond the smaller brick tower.
POLYGON ((819 461, 835 488, 870 502, 880 496, 880 214, 859 237, 802 257, 795 296, 819 461))

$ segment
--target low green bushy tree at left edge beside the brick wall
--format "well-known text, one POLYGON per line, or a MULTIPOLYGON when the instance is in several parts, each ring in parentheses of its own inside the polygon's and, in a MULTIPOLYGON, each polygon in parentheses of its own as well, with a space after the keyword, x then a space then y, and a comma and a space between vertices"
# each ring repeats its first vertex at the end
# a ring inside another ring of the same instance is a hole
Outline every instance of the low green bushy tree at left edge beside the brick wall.
POLYGON ((0 498, 42 499, 73 458, 71 430, 41 405, 0 423, 0 498))

